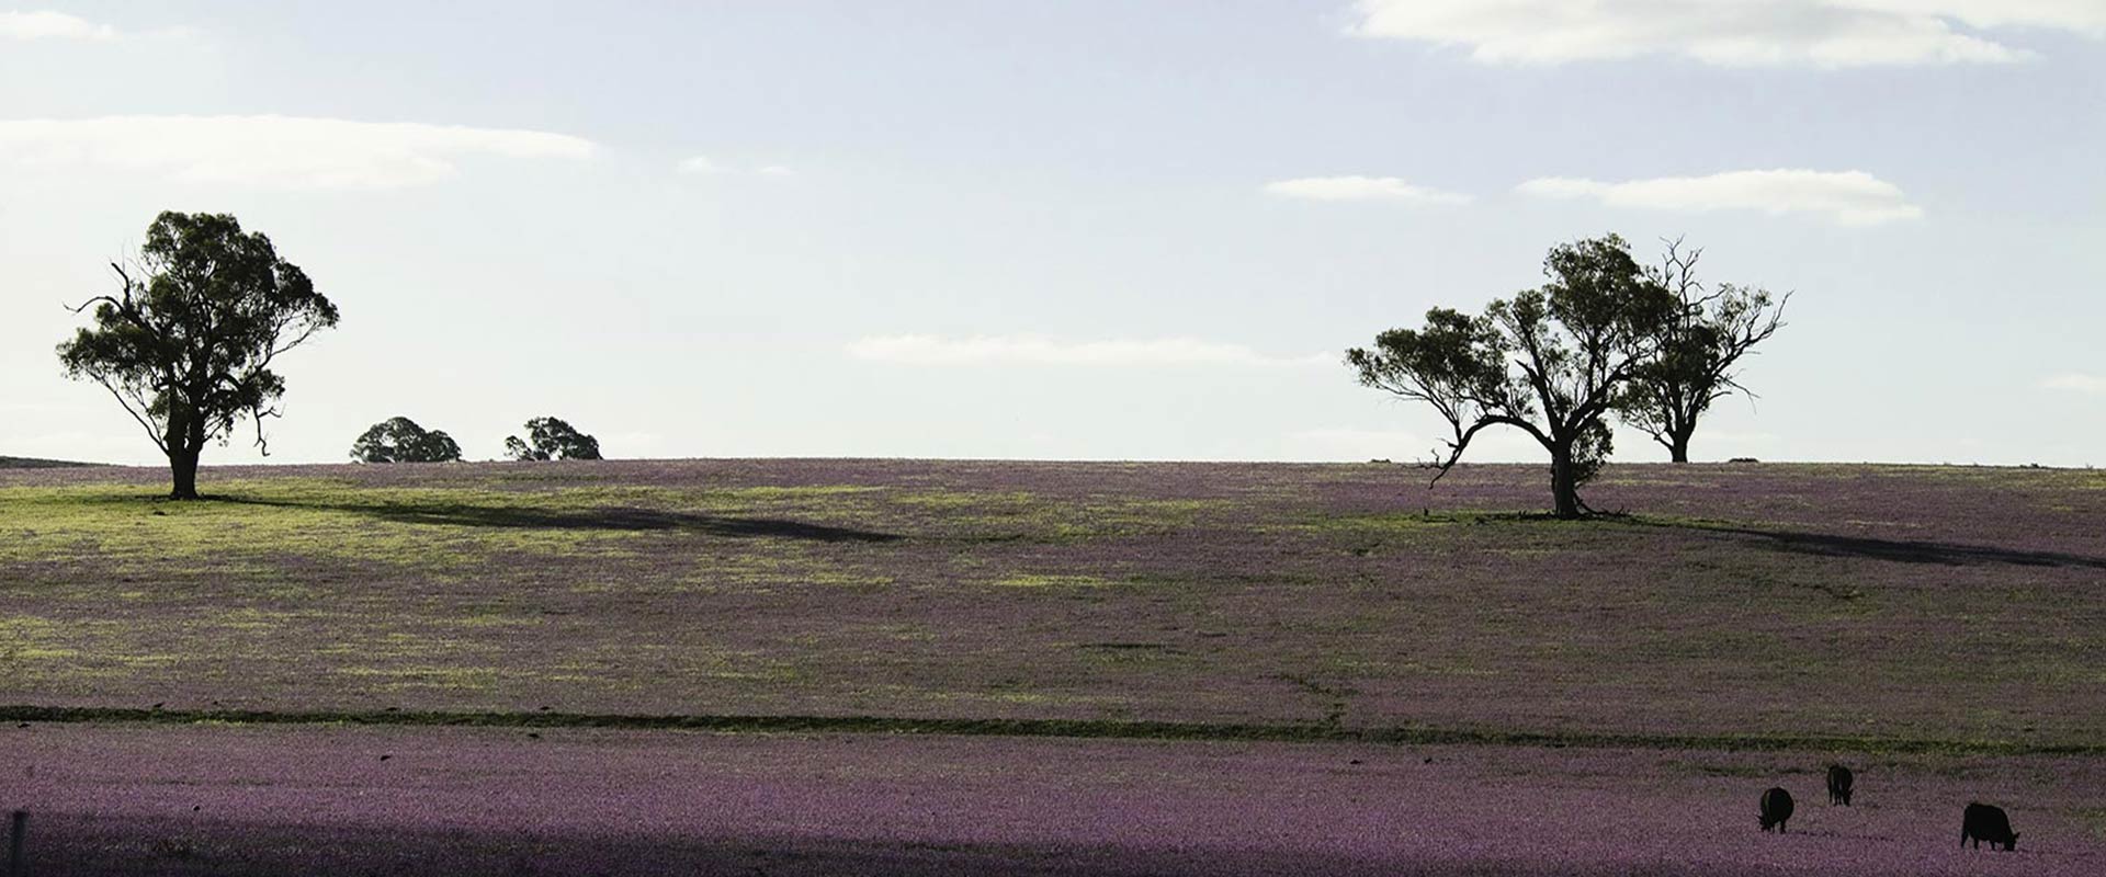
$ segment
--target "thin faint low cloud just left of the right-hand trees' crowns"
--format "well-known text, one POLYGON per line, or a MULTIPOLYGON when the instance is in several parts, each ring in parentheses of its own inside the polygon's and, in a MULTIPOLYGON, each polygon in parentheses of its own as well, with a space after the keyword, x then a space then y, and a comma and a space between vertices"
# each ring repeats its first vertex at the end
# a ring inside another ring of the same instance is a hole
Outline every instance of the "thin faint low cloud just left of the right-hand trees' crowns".
POLYGON ((1329 353, 1276 358, 1257 353, 1245 345, 1196 339, 1053 341, 1028 334, 992 334, 971 339, 946 339, 939 334, 887 334, 853 341, 847 351, 857 360, 908 362, 922 366, 971 366, 996 362, 1059 366, 1304 366, 1331 364, 1337 360, 1329 353))

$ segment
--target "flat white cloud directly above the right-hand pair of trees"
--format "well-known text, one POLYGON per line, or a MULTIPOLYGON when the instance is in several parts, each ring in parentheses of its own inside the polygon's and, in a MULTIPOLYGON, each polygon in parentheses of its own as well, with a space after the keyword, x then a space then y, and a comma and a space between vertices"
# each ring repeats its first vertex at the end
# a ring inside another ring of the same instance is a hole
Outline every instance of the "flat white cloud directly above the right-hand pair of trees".
POLYGON ((1923 217, 1893 183, 1864 170, 1731 170, 1710 177, 1657 177, 1626 183, 1544 177, 1516 191, 1539 198, 1594 198, 1607 206, 1647 210, 1815 212, 1843 225, 1879 225, 1923 217))

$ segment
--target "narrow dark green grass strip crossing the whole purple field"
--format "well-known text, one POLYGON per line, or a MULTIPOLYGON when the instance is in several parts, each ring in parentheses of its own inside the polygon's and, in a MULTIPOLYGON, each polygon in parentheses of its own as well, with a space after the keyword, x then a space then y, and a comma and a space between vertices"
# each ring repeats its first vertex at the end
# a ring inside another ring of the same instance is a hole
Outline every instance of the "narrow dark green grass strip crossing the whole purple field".
POLYGON ((943 734, 1061 736, 1116 740, 1268 740, 1451 747, 1588 747, 1704 751, 1828 751, 1900 755, 2106 755, 2106 742, 2034 745, 2011 740, 1927 740, 1893 736, 1729 736, 1512 732, 1470 728, 1342 728, 1323 723, 1215 723, 1114 719, 906 719, 882 715, 623 715, 623 713, 446 713, 446 711, 253 711, 128 707, 0 707, 6 723, 156 726, 383 726, 383 728, 609 728, 727 734, 943 734))

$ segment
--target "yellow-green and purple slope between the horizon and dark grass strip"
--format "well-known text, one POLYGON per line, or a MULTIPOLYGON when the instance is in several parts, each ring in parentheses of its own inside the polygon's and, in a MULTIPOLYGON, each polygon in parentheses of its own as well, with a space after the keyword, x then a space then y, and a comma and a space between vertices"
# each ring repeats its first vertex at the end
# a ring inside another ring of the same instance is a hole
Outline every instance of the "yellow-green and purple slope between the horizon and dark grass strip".
POLYGON ((0 473, 0 705, 2106 745, 2106 475, 0 473))

